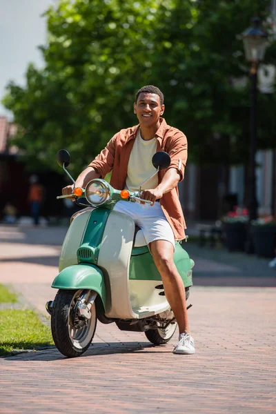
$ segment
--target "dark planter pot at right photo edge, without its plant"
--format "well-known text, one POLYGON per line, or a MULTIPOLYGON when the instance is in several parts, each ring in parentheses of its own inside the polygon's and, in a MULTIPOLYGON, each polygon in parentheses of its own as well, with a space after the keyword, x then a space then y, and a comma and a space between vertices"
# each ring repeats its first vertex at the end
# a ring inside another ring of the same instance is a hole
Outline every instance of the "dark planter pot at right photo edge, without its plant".
POLYGON ((261 257, 275 257, 276 225, 251 226, 255 253, 261 257))

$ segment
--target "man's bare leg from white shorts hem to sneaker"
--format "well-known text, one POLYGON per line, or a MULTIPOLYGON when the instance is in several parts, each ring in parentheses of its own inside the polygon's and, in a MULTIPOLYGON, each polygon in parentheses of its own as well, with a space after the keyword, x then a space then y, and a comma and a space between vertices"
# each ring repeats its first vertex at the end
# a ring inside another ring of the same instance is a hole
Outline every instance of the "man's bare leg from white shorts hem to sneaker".
POLYGON ((179 333, 190 333, 184 283, 173 261, 174 248, 167 240, 150 243, 150 251, 161 275, 166 299, 175 314, 179 333))

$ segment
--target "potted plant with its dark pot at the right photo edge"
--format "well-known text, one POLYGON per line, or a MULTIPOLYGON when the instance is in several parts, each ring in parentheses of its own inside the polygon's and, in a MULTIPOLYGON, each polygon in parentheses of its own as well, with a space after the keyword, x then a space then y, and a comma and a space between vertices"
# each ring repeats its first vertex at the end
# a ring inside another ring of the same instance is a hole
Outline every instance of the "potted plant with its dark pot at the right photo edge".
POLYGON ((275 257, 276 218, 261 217, 251 221, 251 230, 255 253, 261 257, 275 257))

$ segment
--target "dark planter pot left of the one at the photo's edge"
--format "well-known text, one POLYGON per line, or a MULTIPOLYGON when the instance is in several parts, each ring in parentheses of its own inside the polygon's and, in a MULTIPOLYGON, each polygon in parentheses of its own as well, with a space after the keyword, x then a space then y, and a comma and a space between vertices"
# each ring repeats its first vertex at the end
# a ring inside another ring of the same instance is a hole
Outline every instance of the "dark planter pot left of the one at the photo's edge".
POLYGON ((224 233, 225 246, 230 252, 244 251, 247 238, 246 223, 222 223, 221 230, 224 233))

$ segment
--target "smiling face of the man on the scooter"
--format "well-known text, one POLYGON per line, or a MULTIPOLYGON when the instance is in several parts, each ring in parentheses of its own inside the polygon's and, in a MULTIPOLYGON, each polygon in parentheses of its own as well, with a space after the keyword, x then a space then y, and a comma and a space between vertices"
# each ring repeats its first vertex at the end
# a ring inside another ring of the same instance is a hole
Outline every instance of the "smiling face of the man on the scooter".
POLYGON ((159 95, 155 93, 140 93, 137 103, 134 104, 134 113, 140 125, 151 126, 157 124, 163 115, 165 106, 161 105, 159 95))

